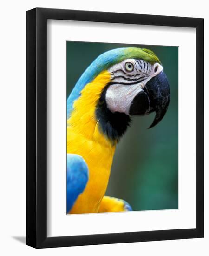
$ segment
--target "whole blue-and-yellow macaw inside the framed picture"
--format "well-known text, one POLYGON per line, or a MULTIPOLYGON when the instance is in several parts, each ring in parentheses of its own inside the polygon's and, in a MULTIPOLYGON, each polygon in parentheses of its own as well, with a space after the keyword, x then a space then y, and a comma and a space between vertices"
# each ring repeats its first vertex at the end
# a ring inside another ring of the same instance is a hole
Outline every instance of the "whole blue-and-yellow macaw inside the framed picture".
POLYGON ((133 115, 163 119, 170 88, 151 50, 117 48, 99 55, 67 99, 67 213, 130 211, 124 200, 105 196, 116 145, 133 115))

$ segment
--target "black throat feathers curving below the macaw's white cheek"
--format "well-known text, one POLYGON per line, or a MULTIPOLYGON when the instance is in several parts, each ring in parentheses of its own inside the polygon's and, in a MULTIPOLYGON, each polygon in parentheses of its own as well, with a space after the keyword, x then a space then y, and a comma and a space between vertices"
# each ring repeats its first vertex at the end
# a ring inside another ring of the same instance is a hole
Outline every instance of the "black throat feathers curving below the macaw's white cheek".
POLYGON ((110 139, 111 141, 119 141, 119 139, 124 135, 127 130, 131 118, 125 113, 115 112, 112 113, 108 108, 105 101, 105 94, 108 87, 113 84, 112 82, 108 83, 99 98, 97 108, 96 108, 96 117, 99 122, 101 131, 110 139))

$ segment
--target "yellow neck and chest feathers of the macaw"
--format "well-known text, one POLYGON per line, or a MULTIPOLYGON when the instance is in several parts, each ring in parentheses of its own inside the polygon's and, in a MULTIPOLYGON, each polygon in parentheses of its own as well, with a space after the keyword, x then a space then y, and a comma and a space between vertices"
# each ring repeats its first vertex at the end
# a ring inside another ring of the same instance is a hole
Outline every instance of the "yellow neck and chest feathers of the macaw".
POLYGON ((101 132, 95 110, 110 79, 109 72, 104 71, 87 84, 67 120, 67 153, 81 155, 89 168, 89 181, 71 213, 98 212, 107 188, 116 145, 101 132))

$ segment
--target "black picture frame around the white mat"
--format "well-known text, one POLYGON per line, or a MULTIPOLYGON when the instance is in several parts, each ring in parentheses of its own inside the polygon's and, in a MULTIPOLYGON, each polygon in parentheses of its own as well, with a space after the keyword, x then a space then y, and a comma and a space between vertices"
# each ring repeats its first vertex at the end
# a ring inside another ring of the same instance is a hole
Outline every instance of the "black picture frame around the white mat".
POLYGON ((26 244, 34 248, 198 238, 204 236, 204 19, 34 8, 27 11, 26 244), (47 19, 196 28, 196 228, 47 237, 47 19))

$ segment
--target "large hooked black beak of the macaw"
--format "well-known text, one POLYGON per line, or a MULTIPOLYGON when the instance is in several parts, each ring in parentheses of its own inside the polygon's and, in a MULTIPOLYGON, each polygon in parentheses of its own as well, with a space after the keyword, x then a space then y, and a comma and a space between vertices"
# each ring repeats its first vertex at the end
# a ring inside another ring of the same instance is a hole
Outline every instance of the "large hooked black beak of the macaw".
POLYGON ((156 116, 149 128, 163 119, 170 102, 170 88, 163 71, 147 82, 143 91, 138 93, 129 110, 130 115, 148 115, 155 111, 156 116))

